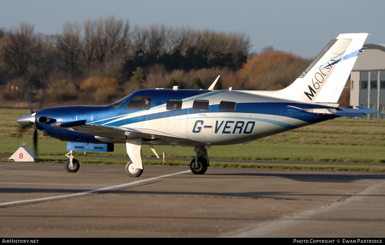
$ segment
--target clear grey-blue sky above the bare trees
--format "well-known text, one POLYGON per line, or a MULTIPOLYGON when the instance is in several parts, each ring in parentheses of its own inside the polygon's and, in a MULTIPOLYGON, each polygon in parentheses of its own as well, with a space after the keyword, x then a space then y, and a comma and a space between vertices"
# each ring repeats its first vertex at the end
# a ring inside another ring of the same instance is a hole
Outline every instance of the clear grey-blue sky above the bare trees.
POLYGON ((32 24, 36 33, 61 33, 67 21, 128 19, 132 25, 189 26, 251 37, 250 52, 263 47, 314 58, 340 33, 369 33, 366 43, 385 43, 383 0, 0 0, 0 28, 32 24))

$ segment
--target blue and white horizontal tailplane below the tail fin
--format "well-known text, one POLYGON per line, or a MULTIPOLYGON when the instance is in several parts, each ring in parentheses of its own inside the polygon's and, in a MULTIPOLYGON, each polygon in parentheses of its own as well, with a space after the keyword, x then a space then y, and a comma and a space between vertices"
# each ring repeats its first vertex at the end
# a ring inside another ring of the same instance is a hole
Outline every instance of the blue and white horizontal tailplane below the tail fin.
POLYGON ((378 111, 369 109, 366 107, 358 106, 358 109, 345 109, 345 108, 299 108, 288 105, 292 110, 298 110, 301 112, 308 112, 317 115, 336 115, 338 117, 359 117, 362 115, 377 113, 378 111))

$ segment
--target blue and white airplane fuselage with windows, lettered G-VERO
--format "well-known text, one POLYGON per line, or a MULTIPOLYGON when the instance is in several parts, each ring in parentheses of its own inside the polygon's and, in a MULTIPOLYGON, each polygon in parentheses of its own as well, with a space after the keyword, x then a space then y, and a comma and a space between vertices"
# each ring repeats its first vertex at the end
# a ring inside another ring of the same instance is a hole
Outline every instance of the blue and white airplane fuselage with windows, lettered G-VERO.
MULTIPOLYGON (((42 109, 35 115, 35 125, 45 134, 69 142, 111 141, 70 129, 51 127, 53 123, 86 120, 88 125, 120 130, 126 128, 127 131, 132 128, 153 130, 174 136, 167 139, 144 137, 142 144, 229 145, 246 143, 336 117, 288 108, 306 108, 306 105, 303 102, 231 90, 144 89, 108 106, 42 109), (38 120, 40 117, 51 120, 41 123, 38 120)), ((311 108, 315 107, 311 105, 311 108)), ((115 137, 113 142, 125 143, 125 140, 115 137)))

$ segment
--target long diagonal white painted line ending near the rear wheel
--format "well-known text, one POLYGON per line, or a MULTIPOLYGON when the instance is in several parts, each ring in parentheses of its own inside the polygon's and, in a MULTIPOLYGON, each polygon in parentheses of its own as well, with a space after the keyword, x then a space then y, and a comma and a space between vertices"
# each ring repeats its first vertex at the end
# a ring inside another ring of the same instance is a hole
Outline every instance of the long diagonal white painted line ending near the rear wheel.
POLYGON ((159 177, 147 178, 145 180, 137 180, 137 181, 126 183, 126 184, 113 185, 113 186, 110 186, 110 187, 104 187, 104 188, 100 188, 100 189, 96 189, 96 190, 89 190, 89 191, 86 191, 86 192, 79 192, 79 193, 68 194, 68 195, 61 195, 61 196, 55 196, 55 197, 42 197, 42 198, 36 198, 36 199, 20 200, 20 201, 14 201, 14 202, 3 202, 3 203, 0 203, 0 207, 8 206, 8 205, 13 205, 13 204, 20 204, 20 203, 41 202, 41 201, 53 200, 53 199, 57 199, 57 198, 76 197, 76 196, 81 196, 81 195, 90 194, 90 193, 94 193, 94 192, 100 192, 102 190, 110 190, 110 189, 114 189, 114 188, 128 187, 130 185, 136 185, 138 183, 142 183, 142 182, 146 182, 146 181, 151 181, 151 180, 157 180, 159 178, 165 178, 165 177, 169 177, 169 176, 172 176, 172 175, 188 173, 188 172, 191 172, 191 170, 186 170, 186 171, 182 171, 182 172, 178 172, 178 173, 170 173, 170 174, 162 175, 162 176, 159 176, 159 177))

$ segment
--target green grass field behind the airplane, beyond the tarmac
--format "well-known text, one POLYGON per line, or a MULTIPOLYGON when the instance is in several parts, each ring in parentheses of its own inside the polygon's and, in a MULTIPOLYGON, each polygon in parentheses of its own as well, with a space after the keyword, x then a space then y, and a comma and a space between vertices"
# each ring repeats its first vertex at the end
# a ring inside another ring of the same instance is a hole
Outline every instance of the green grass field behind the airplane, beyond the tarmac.
MULTIPOLYGON (((29 110, 0 109, 0 153, 15 152, 22 142, 33 149, 33 130, 27 128, 20 133, 20 126, 16 122, 17 118, 28 112, 29 110)), ((154 147, 158 154, 166 151, 167 157, 192 158, 195 154, 192 148, 154 147)), ((142 151, 144 157, 154 156, 147 146, 142 147, 142 151)), ((39 133, 39 154, 64 155, 65 153, 67 153, 66 142, 39 133)), ((385 162, 385 120, 338 118, 334 121, 329 120, 254 140, 247 145, 212 146, 208 154, 210 158, 228 159, 383 163, 385 162)), ((77 155, 83 155, 83 152, 77 152, 77 155)), ((115 152, 87 152, 87 155, 127 156, 127 153, 124 144, 116 144, 115 152)), ((104 161, 107 163, 106 160, 104 161)), ((227 165, 227 167, 230 166, 227 165)))

